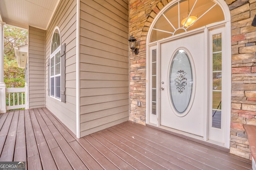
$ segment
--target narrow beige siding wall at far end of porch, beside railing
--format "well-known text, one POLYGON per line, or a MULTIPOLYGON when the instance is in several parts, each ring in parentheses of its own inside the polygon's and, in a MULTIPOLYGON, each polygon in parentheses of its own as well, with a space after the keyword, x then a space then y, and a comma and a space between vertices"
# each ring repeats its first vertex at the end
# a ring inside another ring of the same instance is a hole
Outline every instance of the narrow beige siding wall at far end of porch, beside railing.
POLYGON ((45 107, 45 31, 28 30, 28 97, 29 108, 45 107))

